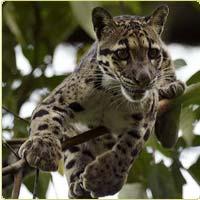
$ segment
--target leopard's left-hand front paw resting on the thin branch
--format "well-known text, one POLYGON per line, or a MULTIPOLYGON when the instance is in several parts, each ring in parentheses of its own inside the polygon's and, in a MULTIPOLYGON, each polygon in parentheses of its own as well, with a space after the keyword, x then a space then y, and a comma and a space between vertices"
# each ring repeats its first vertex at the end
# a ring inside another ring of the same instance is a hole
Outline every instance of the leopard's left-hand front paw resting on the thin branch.
POLYGON ((49 135, 30 137, 18 153, 30 166, 44 171, 56 171, 62 157, 60 141, 49 135))

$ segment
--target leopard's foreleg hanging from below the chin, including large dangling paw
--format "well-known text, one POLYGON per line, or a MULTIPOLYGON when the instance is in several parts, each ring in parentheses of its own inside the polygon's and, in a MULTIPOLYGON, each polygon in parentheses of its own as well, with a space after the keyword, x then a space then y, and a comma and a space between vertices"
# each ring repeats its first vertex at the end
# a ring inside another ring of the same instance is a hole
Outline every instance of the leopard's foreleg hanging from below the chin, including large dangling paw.
MULTIPOLYGON (((154 97, 153 97, 154 99, 154 97)), ((83 187, 92 197, 117 193, 126 182, 129 169, 149 138, 155 124, 158 96, 149 105, 140 126, 123 132, 117 143, 92 161, 81 175, 83 187)))

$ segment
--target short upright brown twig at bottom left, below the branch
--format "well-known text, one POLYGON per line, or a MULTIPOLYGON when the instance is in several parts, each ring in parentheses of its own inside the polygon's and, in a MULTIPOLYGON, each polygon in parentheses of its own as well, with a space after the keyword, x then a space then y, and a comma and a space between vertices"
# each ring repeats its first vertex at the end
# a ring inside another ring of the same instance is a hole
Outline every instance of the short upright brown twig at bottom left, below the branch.
POLYGON ((23 178, 23 169, 20 169, 15 175, 14 175, 14 185, 12 190, 12 199, 18 199, 20 187, 22 184, 22 178, 23 178))

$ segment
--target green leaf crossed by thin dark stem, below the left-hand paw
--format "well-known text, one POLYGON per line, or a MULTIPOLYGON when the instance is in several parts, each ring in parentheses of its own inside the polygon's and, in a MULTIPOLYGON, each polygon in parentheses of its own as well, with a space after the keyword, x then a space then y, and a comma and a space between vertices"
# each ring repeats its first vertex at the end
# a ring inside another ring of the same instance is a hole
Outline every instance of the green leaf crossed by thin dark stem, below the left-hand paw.
MULTIPOLYGON (((35 174, 27 176, 24 179, 24 184, 28 190, 32 193, 34 187, 35 174)), ((46 198, 46 192, 49 186, 49 181, 51 180, 51 173, 41 172, 39 173, 39 181, 37 187, 37 197, 40 199, 46 198)))

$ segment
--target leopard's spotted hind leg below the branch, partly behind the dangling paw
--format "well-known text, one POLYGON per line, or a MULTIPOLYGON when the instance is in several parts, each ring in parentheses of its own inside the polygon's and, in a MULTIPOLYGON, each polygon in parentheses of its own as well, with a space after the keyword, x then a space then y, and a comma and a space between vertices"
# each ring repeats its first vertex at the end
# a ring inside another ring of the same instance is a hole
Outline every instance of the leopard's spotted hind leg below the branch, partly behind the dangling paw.
POLYGON ((69 184, 70 198, 91 198, 90 192, 84 190, 80 176, 84 172, 85 167, 97 155, 110 150, 115 142, 115 138, 111 134, 108 134, 73 146, 65 151, 65 174, 69 184))

